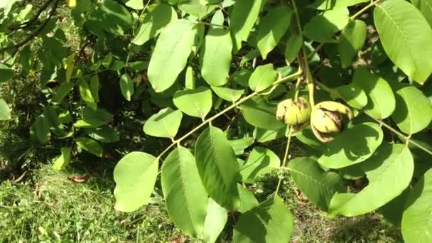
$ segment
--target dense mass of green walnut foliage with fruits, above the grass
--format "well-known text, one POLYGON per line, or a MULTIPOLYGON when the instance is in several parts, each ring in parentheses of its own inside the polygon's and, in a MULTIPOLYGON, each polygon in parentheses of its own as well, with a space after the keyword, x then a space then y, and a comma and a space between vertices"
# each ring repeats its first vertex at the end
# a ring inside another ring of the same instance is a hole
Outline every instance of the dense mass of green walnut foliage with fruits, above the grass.
MULTIPOLYGON (((288 242, 279 188, 291 173, 328 217, 378 211, 406 242, 431 242, 431 6, 0 0, 0 82, 38 75, 43 108, 28 134, 58 148, 55 169, 77 153, 112 158, 124 107, 146 119, 142 136, 168 141, 121 158, 116 210, 138 210, 160 185, 184 234, 215 242, 232 215, 234 242, 288 242), (80 40, 62 28, 63 4, 80 40), (266 146, 276 139, 284 158, 266 146), (290 159, 293 139, 306 157, 290 159), (259 202, 249 188, 266 173, 279 183, 259 202)), ((19 96, 2 91, 0 120, 14 122, 19 96)))

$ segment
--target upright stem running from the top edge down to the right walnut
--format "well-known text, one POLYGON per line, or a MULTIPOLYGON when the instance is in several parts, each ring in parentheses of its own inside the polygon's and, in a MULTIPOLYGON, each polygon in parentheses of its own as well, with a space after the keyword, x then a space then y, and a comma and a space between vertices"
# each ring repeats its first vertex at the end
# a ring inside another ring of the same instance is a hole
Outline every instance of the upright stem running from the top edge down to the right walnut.
MULTIPOLYGON (((293 4, 294 15, 296 16, 298 32, 300 34, 303 34, 303 30, 301 28, 301 23, 300 23, 300 17, 298 16, 296 1, 291 0, 291 3, 293 4)), ((306 75, 306 83, 308 84, 308 90, 309 90, 309 103, 311 103, 312 107, 315 107, 315 85, 313 84, 313 77, 311 73, 311 68, 309 68, 308 54, 306 53, 305 45, 301 46, 301 51, 302 51, 302 55, 301 57, 299 55, 298 63, 300 64, 301 69, 306 75)))

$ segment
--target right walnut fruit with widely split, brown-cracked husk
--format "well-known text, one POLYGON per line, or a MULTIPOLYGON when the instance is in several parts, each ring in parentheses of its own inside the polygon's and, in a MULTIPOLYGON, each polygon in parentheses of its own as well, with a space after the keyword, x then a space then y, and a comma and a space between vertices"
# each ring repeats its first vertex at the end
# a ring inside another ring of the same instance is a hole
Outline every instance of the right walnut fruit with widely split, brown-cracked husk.
POLYGON ((335 134, 342 129, 342 115, 352 119, 352 111, 349 107, 338 102, 320 102, 315 105, 311 113, 311 127, 313 134, 323 142, 333 140, 335 134))

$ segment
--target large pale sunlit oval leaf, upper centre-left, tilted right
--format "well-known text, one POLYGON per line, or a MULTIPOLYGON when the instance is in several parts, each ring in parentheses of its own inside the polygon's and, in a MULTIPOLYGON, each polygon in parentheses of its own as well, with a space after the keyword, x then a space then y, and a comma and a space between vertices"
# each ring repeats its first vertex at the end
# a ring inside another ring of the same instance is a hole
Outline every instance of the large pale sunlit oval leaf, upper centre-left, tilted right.
POLYGON ((163 29, 148 64, 148 80, 156 92, 168 90, 185 68, 196 35, 194 26, 180 19, 163 29))

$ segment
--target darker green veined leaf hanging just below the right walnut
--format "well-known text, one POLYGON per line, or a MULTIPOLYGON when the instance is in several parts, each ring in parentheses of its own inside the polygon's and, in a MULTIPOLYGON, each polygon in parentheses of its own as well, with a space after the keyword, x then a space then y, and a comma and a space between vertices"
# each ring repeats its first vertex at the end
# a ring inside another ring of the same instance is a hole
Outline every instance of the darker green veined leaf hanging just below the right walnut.
POLYGON ((324 171, 311 158, 295 158, 289 161, 288 169, 297 187, 320 210, 328 211, 333 195, 347 189, 338 173, 324 171))

